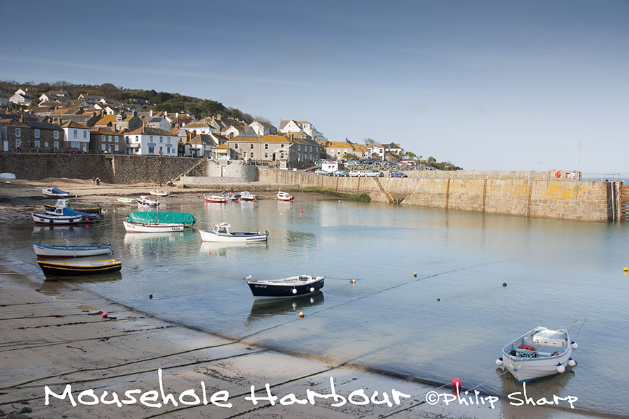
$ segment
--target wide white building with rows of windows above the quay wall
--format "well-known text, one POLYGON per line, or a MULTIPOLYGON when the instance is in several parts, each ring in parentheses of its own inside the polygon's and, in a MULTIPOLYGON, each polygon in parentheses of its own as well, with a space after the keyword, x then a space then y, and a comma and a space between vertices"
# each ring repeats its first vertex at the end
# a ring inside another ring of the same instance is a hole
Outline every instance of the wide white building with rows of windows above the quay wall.
POLYGON ((177 134, 159 128, 140 126, 124 134, 126 154, 138 156, 177 156, 177 134))

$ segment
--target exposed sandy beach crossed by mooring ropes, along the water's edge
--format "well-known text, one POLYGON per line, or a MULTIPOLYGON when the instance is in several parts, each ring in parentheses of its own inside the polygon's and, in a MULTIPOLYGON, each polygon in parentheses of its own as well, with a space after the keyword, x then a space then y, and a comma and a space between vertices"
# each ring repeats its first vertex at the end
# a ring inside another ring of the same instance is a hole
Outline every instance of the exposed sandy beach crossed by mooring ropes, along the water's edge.
MULTIPOLYGON (((52 182, 80 196, 77 202, 106 208, 106 216, 124 205, 116 196, 154 187, 73 179, 2 184, 3 228, 41 210, 41 189, 52 182)), ((169 206, 203 193, 170 190, 169 206)), ((1 253, 8 251, 4 244, 1 253)), ((610 417, 581 412, 578 403, 571 409, 569 400, 516 406, 505 395, 475 395, 465 377, 462 391, 471 391, 457 397, 449 383, 428 385, 348 362, 280 353, 148 316, 71 282, 44 281, 43 274, 15 270, 5 256, 0 265, 0 418, 610 417)))

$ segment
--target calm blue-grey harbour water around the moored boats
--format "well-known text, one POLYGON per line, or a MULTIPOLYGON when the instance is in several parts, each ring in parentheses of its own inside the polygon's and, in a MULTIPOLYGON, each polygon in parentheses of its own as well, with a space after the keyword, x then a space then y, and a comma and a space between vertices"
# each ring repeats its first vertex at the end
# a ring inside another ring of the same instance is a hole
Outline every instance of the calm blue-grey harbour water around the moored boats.
POLYGON ((191 212, 196 228, 227 221, 234 231, 269 230, 269 242, 219 247, 196 230, 157 237, 125 234, 122 223, 50 230, 25 222, 3 228, 8 258, 43 279, 30 242, 106 237, 122 277, 82 281, 90 291, 229 337, 438 383, 458 376, 493 395, 521 390, 496 371, 505 344, 537 325, 572 325, 579 365, 530 384, 529 394, 629 411, 619 390, 629 370, 629 223, 333 201, 163 210, 191 212), (258 304, 243 281, 301 273, 325 275, 323 292, 258 304))

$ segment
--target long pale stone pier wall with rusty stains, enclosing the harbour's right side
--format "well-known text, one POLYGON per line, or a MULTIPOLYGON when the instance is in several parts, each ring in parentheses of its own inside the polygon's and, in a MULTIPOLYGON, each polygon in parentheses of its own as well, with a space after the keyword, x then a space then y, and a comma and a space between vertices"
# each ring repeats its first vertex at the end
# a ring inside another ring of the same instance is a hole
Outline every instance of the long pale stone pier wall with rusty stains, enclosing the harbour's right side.
MULTIPOLYGON (((551 180, 544 179, 544 175, 540 179, 526 178, 528 172, 510 179, 490 179, 463 172, 453 172, 457 178, 429 173, 416 177, 417 172, 405 178, 328 177, 261 168, 259 179, 290 184, 296 190, 312 187, 356 195, 367 193, 374 201, 401 205, 574 221, 614 220, 614 182, 551 180)), ((500 177, 499 173, 496 177, 500 177)))

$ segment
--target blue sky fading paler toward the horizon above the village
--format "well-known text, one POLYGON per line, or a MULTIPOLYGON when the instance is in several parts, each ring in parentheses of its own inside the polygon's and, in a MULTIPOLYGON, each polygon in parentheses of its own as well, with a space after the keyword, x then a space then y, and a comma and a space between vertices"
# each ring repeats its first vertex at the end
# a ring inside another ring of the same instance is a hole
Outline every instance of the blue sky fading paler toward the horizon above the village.
POLYGON ((0 16, 0 80, 196 96, 466 170, 629 172, 629 0, 0 0, 0 16))

